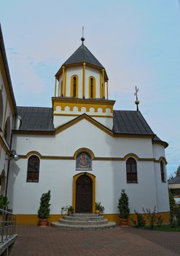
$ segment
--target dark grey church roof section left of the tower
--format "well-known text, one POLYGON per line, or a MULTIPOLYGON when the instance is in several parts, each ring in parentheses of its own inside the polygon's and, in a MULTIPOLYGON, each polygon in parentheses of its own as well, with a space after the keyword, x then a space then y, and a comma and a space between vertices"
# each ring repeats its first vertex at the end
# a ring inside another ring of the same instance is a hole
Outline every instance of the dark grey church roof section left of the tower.
POLYGON ((52 108, 17 107, 21 117, 20 130, 53 131, 52 108))

